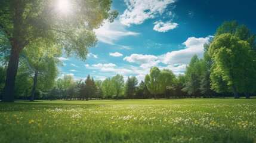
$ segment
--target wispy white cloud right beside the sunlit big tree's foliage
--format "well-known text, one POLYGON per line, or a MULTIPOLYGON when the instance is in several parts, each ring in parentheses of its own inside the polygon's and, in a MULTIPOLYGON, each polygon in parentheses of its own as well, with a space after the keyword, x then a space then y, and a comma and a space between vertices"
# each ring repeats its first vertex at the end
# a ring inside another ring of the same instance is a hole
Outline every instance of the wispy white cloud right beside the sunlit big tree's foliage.
MULTIPOLYGON (((113 23, 106 21, 102 27, 95 29, 94 32, 97 35, 98 41, 108 43, 110 45, 117 45, 114 43, 114 41, 118 41, 125 36, 136 36, 140 34, 126 30, 125 26, 120 24, 119 21, 114 21, 113 23)), ((127 48, 127 46, 123 45, 118 46, 127 48)))

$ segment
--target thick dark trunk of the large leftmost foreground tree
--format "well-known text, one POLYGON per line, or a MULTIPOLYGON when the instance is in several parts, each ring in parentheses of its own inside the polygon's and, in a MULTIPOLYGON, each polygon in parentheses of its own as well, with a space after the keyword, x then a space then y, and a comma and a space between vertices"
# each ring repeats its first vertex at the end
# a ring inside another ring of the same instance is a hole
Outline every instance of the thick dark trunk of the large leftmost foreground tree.
POLYGON ((18 69, 18 55, 20 50, 15 46, 11 46, 11 55, 6 71, 6 80, 4 92, 2 94, 2 102, 14 102, 15 80, 18 69))

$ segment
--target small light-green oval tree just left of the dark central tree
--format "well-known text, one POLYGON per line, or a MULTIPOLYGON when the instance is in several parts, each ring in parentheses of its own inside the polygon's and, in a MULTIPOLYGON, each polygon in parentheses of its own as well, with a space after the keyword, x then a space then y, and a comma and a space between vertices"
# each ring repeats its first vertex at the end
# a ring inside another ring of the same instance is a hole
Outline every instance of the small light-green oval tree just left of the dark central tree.
POLYGON ((116 74, 116 76, 113 76, 111 79, 112 86, 113 86, 113 91, 116 94, 116 100, 118 100, 119 94, 122 92, 125 82, 124 82, 124 77, 116 74))

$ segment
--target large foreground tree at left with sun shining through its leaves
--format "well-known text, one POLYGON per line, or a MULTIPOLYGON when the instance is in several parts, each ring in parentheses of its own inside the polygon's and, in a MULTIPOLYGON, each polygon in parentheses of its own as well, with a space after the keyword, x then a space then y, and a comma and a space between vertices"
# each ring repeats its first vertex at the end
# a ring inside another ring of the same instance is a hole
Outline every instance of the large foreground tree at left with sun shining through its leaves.
POLYGON ((10 45, 2 101, 14 101, 19 54, 36 39, 54 39, 67 55, 75 54, 85 60, 87 48, 97 42, 93 29, 102 26, 104 20, 112 22, 118 15, 118 11, 110 11, 111 2, 76 0, 61 10, 58 1, 1 1, 0 36, 8 39, 10 45))

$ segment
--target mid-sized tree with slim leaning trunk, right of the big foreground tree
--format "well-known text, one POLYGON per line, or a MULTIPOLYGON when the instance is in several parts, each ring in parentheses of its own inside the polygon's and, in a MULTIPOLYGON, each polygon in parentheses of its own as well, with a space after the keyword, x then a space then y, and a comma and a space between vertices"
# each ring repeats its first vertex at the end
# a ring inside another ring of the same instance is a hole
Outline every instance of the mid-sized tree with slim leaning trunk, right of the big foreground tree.
POLYGON ((27 45, 26 48, 21 51, 20 55, 27 63, 27 72, 34 74, 33 88, 30 95, 30 101, 34 100, 36 84, 38 78, 40 82, 44 82, 44 90, 48 91, 53 87, 54 79, 57 77, 58 70, 56 63, 57 58, 61 56, 61 51, 58 46, 54 46, 53 42, 46 41, 45 39, 37 39, 36 43, 27 45), (38 50, 36 47, 40 47, 38 50))

